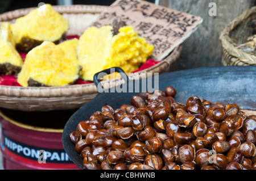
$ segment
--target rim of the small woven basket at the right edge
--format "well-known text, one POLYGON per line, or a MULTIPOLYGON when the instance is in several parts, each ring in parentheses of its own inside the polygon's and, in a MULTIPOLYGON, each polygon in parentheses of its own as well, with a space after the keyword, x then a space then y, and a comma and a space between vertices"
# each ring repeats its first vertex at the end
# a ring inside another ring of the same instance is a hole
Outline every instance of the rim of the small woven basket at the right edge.
POLYGON ((224 30, 220 32, 220 40, 222 48, 225 49, 231 56, 236 57, 241 62, 244 62, 247 65, 256 65, 256 56, 243 51, 242 49, 236 48, 232 39, 229 37, 229 32, 234 30, 244 19, 249 18, 251 14, 256 13, 256 6, 251 7, 249 10, 243 11, 242 14, 233 19, 224 30))

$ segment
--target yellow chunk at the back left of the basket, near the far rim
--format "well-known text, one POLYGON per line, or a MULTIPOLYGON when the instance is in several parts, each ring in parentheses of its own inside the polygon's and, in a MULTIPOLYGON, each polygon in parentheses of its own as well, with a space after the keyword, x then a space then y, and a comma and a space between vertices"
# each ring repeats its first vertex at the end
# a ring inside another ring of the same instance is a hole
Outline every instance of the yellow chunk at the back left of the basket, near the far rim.
POLYGON ((16 19, 11 30, 16 44, 23 37, 38 41, 56 41, 68 30, 68 20, 53 10, 51 5, 46 4, 16 19))

